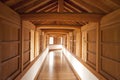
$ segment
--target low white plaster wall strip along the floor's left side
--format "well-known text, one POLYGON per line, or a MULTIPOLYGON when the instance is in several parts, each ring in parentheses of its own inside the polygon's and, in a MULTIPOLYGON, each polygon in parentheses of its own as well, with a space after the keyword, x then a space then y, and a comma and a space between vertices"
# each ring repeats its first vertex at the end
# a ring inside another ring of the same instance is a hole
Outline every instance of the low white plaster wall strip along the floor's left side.
POLYGON ((22 77, 21 80, 34 80, 37 72, 42 66, 42 63, 45 60, 46 55, 48 54, 49 48, 42 53, 42 55, 38 58, 38 60, 32 65, 32 67, 26 72, 26 74, 22 77))

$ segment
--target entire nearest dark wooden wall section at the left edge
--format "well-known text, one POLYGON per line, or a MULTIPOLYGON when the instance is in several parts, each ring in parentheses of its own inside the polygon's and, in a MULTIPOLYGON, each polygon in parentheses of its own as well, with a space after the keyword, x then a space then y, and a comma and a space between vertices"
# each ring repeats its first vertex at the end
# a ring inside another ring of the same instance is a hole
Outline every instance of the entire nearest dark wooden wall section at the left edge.
POLYGON ((14 80, 20 73, 20 16, 0 2, 0 78, 14 80))

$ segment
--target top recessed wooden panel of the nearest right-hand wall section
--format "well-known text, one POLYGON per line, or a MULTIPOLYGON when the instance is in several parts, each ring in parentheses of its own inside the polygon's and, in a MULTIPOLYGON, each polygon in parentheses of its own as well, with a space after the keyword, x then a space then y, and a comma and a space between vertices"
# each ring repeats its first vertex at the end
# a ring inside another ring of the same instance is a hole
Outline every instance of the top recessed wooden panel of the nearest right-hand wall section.
POLYGON ((120 24, 112 24, 110 27, 106 26, 101 30, 102 42, 119 42, 120 41, 120 24), (107 27, 107 28, 106 28, 107 27))

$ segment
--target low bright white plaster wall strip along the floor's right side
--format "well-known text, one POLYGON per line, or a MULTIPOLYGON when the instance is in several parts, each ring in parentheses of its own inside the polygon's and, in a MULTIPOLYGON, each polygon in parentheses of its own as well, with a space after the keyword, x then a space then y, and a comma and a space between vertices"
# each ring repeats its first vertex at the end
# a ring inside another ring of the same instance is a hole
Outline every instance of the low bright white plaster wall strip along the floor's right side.
POLYGON ((80 61, 63 47, 63 53, 67 57, 74 70, 78 73, 81 80, 99 80, 92 72, 90 72, 80 61))

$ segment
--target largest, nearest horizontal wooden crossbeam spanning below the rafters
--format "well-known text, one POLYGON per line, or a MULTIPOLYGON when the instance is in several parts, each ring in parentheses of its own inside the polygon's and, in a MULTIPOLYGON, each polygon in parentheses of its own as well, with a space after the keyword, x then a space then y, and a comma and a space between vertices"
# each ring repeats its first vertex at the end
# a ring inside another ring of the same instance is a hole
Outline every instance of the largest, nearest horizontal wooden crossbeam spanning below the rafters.
POLYGON ((100 14, 88 13, 39 13, 22 14, 21 18, 28 21, 86 21, 98 22, 103 17, 100 14))

